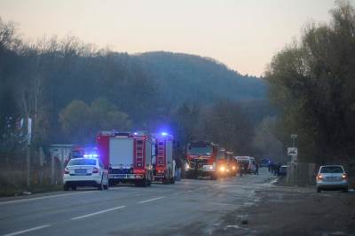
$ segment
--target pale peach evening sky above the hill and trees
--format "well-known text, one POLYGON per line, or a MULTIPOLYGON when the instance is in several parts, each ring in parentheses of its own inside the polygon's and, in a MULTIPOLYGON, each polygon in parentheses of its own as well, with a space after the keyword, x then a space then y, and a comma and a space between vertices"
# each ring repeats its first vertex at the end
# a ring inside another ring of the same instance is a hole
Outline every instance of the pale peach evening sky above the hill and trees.
MULTIPOLYGON (((355 0, 351 0, 354 5, 355 0)), ((20 34, 75 35, 114 51, 174 51, 262 75, 306 22, 328 22, 334 0, 0 0, 20 34)))

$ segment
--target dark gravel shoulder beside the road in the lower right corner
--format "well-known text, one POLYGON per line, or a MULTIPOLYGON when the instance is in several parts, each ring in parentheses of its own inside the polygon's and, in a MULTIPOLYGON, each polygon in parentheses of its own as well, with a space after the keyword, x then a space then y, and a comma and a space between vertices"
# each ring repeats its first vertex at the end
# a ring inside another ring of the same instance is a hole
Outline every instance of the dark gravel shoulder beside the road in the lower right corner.
POLYGON ((215 235, 355 235, 355 192, 273 186, 223 218, 215 235))

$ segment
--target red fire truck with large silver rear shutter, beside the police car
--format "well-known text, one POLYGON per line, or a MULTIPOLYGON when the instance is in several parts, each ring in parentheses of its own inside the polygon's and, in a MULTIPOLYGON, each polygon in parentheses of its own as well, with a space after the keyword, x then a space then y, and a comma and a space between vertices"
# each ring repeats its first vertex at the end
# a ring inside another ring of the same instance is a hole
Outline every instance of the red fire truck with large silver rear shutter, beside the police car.
POLYGON ((154 143, 148 133, 101 131, 97 137, 97 145, 99 159, 108 168, 109 185, 151 185, 154 143))

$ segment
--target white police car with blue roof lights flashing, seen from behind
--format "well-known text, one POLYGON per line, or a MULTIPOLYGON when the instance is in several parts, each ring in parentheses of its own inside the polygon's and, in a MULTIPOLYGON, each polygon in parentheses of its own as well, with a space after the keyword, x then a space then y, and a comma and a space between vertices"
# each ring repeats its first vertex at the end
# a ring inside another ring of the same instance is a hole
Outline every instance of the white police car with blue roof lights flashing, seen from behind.
POLYGON ((63 188, 76 190, 77 186, 93 186, 108 189, 107 169, 99 159, 75 158, 67 163, 63 174, 63 188))

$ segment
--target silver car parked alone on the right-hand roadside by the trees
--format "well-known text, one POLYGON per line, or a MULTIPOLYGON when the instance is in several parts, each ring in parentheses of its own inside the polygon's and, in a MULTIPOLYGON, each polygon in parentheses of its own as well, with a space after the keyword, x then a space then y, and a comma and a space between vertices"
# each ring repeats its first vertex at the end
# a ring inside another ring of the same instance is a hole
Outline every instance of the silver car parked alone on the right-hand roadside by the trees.
POLYGON ((342 165, 320 166, 316 182, 318 193, 322 190, 343 190, 343 192, 348 192, 348 175, 342 165))

